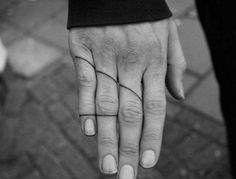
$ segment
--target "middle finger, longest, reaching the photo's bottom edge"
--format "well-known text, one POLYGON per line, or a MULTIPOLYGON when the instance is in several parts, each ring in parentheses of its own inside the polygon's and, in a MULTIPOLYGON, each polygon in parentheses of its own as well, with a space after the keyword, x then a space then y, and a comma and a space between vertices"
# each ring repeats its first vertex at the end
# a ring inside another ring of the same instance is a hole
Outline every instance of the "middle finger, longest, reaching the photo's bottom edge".
POLYGON ((139 141, 143 119, 141 99, 142 70, 138 70, 142 68, 135 63, 134 59, 129 65, 126 64, 125 68, 122 65, 119 66, 119 179, 133 179, 137 176, 139 141), (136 70, 131 70, 134 65, 136 70))

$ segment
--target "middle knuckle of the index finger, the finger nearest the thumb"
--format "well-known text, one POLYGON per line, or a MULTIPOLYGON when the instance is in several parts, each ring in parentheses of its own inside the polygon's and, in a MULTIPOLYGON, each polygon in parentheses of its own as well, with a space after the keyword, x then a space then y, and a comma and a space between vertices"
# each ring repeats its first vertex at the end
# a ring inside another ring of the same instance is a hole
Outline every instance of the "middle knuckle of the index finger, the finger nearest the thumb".
POLYGON ((166 111, 165 99, 151 99, 144 105, 144 110, 153 115, 164 114, 166 111))

